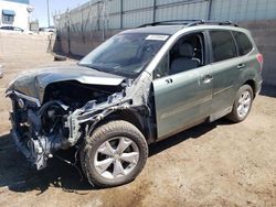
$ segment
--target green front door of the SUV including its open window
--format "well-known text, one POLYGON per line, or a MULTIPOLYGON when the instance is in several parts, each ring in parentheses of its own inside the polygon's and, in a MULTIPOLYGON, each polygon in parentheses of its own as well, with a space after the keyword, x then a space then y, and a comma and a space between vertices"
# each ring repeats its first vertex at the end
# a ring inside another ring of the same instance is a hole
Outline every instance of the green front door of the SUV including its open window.
POLYGON ((203 34, 182 39, 184 40, 176 43, 176 47, 172 47, 155 72, 157 78, 153 80, 153 92, 159 140, 180 132, 210 115, 212 70, 210 65, 204 64, 203 34), (178 51, 179 54, 176 54, 178 51), (168 74, 162 74, 166 68, 168 74), (172 70, 176 73, 170 73, 172 70))

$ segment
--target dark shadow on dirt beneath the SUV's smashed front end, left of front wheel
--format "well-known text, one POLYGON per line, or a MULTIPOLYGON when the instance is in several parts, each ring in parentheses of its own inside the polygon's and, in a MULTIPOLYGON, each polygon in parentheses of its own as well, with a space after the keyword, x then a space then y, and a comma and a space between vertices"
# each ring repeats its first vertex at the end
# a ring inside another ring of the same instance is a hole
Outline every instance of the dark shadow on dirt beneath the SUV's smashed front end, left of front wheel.
MULTIPOLYGON (((71 156, 71 152, 68 152, 71 156)), ((64 190, 92 189, 86 179, 81 181, 77 170, 57 159, 51 159, 42 171, 30 167, 24 156, 17 151, 10 134, 0 137, 0 187, 13 192, 45 192, 50 186, 64 190)))

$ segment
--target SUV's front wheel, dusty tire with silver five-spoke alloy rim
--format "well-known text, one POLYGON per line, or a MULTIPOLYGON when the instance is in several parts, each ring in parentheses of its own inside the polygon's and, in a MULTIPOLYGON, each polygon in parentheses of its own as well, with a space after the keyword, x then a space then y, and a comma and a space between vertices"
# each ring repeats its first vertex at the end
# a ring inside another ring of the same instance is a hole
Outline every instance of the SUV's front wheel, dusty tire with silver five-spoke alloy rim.
POLYGON ((138 176, 148 159, 148 144, 131 123, 109 121, 85 141, 79 155, 82 168, 92 185, 113 187, 138 176))

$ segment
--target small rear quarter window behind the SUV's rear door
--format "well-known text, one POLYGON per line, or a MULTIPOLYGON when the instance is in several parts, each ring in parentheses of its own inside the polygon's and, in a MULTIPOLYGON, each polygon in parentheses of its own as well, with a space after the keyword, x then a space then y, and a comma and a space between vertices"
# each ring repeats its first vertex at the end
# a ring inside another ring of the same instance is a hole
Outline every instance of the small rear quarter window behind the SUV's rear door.
POLYGON ((246 36, 246 34, 242 32, 233 32, 233 34, 235 36, 236 44, 238 47, 238 54, 243 56, 250 53, 253 48, 253 45, 251 41, 248 40, 248 37, 246 36))

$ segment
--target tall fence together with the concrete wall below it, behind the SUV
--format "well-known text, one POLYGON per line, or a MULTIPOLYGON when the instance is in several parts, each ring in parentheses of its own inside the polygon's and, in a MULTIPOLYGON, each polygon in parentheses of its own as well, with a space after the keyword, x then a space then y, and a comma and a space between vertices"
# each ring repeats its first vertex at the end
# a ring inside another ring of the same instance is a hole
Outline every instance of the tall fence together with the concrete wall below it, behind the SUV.
POLYGON ((91 0, 54 17, 66 54, 85 55, 109 36, 145 23, 202 19, 238 22, 265 56, 263 77, 276 85, 276 0, 91 0))

